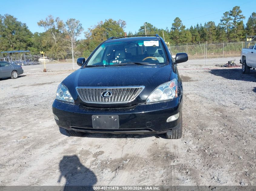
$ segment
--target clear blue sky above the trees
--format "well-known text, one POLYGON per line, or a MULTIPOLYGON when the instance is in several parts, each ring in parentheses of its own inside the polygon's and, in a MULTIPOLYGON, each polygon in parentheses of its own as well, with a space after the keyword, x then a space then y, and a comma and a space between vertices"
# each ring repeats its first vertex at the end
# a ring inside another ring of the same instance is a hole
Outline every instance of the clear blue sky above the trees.
MULTIPOLYGON (((204 1, 1 1, 0 14, 11 14, 18 18, 18 21, 26 23, 29 30, 43 32, 37 22, 52 14, 63 21, 68 18, 79 20, 85 29, 94 26, 99 21, 112 18, 114 20, 125 20, 125 32, 138 31, 144 22, 149 22, 155 27, 170 28, 173 20, 179 17, 186 27, 204 24, 208 21, 220 22, 225 11, 231 10, 234 6, 240 6, 242 14, 246 17, 246 24, 249 16, 255 10, 256 0, 204 0, 204 1)), ((83 38, 84 35, 82 34, 83 38)))

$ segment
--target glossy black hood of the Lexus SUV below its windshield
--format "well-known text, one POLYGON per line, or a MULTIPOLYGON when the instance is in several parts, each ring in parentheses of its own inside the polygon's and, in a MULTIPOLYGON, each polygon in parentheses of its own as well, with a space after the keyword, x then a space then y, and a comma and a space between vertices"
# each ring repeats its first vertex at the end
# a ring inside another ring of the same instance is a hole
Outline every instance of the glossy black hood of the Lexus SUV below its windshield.
POLYGON ((62 83, 77 101, 76 87, 145 86, 138 96, 141 102, 145 102, 155 88, 169 81, 170 74, 171 65, 92 67, 78 69, 62 83))

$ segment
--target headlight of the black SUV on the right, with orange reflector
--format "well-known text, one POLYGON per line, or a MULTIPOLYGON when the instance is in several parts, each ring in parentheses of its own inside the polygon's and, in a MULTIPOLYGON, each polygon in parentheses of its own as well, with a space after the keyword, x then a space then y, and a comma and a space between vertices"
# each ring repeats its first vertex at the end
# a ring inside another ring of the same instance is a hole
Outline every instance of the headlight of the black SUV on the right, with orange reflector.
POLYGON ((171 100, 178 97, 178 82, 176 79, 158 86, 147 98, 147 103, 171 100))

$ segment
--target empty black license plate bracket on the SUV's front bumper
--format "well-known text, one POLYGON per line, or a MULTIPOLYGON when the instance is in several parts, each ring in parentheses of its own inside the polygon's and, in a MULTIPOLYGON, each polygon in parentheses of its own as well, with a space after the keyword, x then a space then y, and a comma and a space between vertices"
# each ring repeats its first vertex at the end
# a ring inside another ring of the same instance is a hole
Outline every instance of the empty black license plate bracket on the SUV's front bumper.
POLYGON ((92 115, 94 129, 119 129, 118 115, 92 115))

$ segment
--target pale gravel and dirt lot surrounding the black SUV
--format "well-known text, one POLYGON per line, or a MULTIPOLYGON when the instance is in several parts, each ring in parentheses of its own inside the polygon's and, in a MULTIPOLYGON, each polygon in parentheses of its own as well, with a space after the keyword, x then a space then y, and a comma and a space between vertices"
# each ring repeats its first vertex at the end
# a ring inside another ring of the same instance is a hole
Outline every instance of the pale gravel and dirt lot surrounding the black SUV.
POLYGON ((52 102, 71 65, 46 73, 42 65, 24 66, 18 79, 0 80, 0 186, 256 185, 256 71, 242 75, 241 68, 194 62, 179 65, 178 140, 68 137, 55 124, 52 102))

